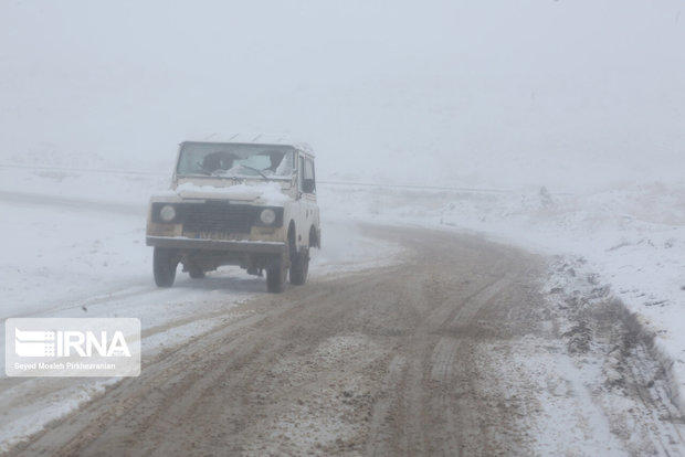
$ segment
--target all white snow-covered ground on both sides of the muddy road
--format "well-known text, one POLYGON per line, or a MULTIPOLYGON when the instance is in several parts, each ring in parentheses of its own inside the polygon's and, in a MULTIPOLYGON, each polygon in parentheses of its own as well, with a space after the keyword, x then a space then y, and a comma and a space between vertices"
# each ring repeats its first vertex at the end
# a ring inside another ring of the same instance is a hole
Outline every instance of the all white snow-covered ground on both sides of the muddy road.
MULTIPOLYGON (((221 269, 201 283, 182 275, 171 290, 154 286, 145 212, 148 196, 167 183, 166 172, 0 166, 0 237, 6 241, 0 317, 138 317, 148 332, 144 351, 155 353, 215 326, 212 316, 263 293, 263 279, 238 268, 221 269)), ((477 232, 563 256, 577 277, 609 287, 656 336, 657 351, 673 362, 672 387, 685 398, 679 329, 685 322, 684 187, 556 194, 538 188, 451 191, 322 183, 319 204, 324 249, 314 258, 314 275, 392 262, 399 247, 366 238, 358 222, 477 232)), ((557 279, 568 281, 568 268, 557 279)), ((552 275, 550 291, 555 280, 552 275)), ((0 424, 0 451, 113 381, 68 380, 48 397, 24 403, 42 382, 0 378, 0 414, 8 417, 0 424)))

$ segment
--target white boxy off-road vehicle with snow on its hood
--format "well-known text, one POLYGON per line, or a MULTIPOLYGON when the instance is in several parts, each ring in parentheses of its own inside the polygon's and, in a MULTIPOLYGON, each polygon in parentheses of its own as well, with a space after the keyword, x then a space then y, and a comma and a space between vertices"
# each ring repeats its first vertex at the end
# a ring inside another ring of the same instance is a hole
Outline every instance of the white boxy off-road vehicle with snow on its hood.
POLYGON ((266 288, 302 285, 320 247, 314 153, 307 145, 185 141, 171 190, 150 199, 147 244, 159 287, 178 264, 191 278, 222 265, 266 272, 266 288))

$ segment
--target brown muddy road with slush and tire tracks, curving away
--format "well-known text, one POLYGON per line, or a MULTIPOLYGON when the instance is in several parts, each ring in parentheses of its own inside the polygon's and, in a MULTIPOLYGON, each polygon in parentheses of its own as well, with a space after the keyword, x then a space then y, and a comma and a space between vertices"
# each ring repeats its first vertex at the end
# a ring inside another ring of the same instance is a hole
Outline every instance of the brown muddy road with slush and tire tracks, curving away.
POLYGON ((404 245, 399 264, 224 307, 209 286, 164 291, 207 309, 154 331, 212 323, 9 454, 685 455, 619 305, 551 300, 546 261, 478 237, 368 235, 404 245))

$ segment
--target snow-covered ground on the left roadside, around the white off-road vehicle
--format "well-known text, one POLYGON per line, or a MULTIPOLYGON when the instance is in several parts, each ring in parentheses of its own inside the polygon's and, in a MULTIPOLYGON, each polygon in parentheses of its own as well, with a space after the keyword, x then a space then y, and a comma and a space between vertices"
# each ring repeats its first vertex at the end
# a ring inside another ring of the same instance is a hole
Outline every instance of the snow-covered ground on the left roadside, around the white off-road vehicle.
MULTIPOLYGON (((166 173, 165 173, 166 174, 166 173)), ((147 200, 168 187, 158 173, 60 167, 0 167, 0 318, 136 317, 146 359, 225 325, 217 316, 265 293, 263 278, 223 267, 202 281, 185 274, 158 289, 145 244, 147 200)), ((312 276, 393 262, 399 247, 365 237, 350 221, 327 220, 326 249, 312 276)), ((238 311, 236 311, 238 312, 238 311)), ((0 326, 4 366, 4 323, 0 326)), ((116 380, 10 379, 0 374, 0 453, 104 392, 116 380), (35 396, 35 392, 42 392, 35 396)))

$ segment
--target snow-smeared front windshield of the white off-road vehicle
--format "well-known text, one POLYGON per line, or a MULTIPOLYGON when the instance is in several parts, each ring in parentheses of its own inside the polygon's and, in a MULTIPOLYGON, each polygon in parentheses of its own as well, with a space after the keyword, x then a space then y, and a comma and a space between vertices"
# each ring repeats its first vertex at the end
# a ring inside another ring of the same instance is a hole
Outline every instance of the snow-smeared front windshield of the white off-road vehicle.
POLYGON ((289 179, 294 153, 291 146, 225 142, 185 142, 178 176, 289 179))

